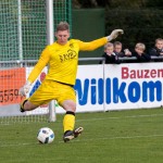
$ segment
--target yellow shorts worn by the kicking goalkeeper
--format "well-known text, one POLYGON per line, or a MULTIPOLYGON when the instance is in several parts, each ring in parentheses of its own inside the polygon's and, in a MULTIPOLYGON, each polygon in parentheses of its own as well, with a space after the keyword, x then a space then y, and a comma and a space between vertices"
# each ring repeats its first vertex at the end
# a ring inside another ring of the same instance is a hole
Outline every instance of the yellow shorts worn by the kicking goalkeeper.
POLYGON ((73 87, 45 79, 28 100, 36 105, 47 104, 51 100, 57 100, 62 105, 65 100, 76 102, 76 96, 73 87))

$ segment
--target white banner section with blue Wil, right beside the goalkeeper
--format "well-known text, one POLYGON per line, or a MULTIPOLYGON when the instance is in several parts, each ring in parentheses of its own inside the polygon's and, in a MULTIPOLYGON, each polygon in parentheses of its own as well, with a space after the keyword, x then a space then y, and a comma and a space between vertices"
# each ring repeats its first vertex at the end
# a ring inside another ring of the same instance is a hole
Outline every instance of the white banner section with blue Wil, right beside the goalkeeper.
POLYGON ((103 65, 79 65, 76 78, 77 112, 103 111, 103 65))

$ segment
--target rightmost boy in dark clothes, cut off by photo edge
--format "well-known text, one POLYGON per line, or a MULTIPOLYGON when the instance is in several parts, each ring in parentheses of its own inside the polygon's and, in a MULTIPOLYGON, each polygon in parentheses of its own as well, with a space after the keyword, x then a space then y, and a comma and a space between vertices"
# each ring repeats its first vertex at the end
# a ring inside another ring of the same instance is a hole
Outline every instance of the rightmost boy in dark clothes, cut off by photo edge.
MULTIPOLYGON (((155 39, 155 46, 154 48, 152 48, 150 51, 149 51, 149 54, 151 57, 163 57, 163 39, 162 38, 158 38, 155 39)), ((161 60, 154 60, 155 62, 159 62, 159 61, 163 61, 163 59, 161 60)))

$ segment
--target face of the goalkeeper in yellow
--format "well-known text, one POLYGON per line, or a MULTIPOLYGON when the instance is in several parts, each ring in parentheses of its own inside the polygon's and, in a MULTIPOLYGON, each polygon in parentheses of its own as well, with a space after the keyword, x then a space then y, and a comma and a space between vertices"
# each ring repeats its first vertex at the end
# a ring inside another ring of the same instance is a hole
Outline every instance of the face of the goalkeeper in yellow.
POLYGON ((64 46, 68 38, 70 38, 70 32, 68 30, 59 30, 55 33, 57 41, 59 45, 64 46))

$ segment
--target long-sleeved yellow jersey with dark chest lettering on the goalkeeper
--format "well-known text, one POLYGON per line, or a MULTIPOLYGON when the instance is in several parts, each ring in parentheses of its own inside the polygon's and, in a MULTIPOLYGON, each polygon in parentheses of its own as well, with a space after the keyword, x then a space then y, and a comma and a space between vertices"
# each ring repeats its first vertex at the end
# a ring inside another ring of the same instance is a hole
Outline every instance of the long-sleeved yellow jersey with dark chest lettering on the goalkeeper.
POLYGON ((28 80, 33 83, 42 68, 49 64, 49 71, 46 79, 51 79, 64 84, 75 85, 78 52, 92 51, 108 42, 105 37, 84 42, 78 39, 71 39, 66 45, 59 45, 57 41, 47 46, 42 51, 37 64, 29 74, 28 80))

